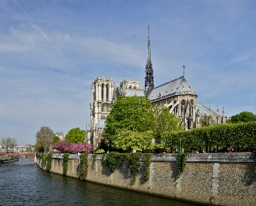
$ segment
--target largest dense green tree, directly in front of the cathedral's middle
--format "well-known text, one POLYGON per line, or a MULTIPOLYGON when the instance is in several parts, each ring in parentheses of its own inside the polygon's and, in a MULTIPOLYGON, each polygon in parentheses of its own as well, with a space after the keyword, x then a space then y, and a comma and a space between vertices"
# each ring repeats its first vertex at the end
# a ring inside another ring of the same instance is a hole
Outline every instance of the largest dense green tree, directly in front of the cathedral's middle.
POLYGON ((152 126, 151 103, 146 96, 119 96, 106 119, 105 134, 115 143, 121 131, 146 132, 152 126))

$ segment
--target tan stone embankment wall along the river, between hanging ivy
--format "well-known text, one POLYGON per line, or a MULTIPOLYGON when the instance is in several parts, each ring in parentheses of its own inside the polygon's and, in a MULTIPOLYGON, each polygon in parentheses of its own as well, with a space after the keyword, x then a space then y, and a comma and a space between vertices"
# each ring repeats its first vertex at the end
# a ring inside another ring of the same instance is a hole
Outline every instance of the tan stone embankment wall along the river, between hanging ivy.
MULTIPOLYGON (((256 203, 256 165, 253 153, 189 154, 186 167, 177 178, 177 154, 152 155, 150 177, 144 180, 144 163, 135 183, 126 161, 115 172, 101 164, 101 155, 88 156, 86 181, 201 205, 246 206, 256 203)), ((35 157, 46 170, 46 164, 35 157)), ((79 178, 80 159, 70 155, 67 176, 79 178)), ((63 156, 53 155, 50 172, 63 175, 63 156)))

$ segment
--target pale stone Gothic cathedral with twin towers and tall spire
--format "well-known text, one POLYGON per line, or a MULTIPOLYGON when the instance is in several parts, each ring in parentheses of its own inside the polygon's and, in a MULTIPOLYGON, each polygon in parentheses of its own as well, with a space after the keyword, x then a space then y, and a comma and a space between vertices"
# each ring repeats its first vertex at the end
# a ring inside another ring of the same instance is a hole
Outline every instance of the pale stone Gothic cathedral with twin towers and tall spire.
MULTIPOLYGON (((183 65, 185 69, 185 65, 183 65)), ((92 96, 90 102, 90 124, 88 125, 88 143, 93 143, 94 149, 99 147, 101 141, 104 141, 104 127, 111 107, 117 98, 121 96, 148 96, 152 106, 166 105, 170 113, 179 117, 185 130, 190 130, 198 125, 199 119, 204 115, 199 108, 203 108, 213 117, 215 123, 225 122, 224 109, 222 114, 210 110, 210 106, 197 101, 197 92, 190 86, 183 76, 155 87, 154 76, 150 56, 150 36, 148 27, 148 56, 145 70, 144 89, 141 88, 139 81, 123 80, 120 85, 117 82, 115 87, 112 79, 98 77, 92 82, 92 96)))

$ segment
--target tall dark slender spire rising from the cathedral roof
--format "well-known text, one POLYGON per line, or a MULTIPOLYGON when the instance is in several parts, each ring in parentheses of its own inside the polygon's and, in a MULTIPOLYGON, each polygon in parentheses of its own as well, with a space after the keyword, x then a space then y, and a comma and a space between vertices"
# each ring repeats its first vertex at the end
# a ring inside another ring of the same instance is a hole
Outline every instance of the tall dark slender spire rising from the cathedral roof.
POLYGON ((149 38, 149 25, 148 25, 148 57, 145 70, 145 94, 148 96, 150 92, 154 89, 154 76, 153 68, 151 63, 151 54, 150 54, 150 38, 149 38))

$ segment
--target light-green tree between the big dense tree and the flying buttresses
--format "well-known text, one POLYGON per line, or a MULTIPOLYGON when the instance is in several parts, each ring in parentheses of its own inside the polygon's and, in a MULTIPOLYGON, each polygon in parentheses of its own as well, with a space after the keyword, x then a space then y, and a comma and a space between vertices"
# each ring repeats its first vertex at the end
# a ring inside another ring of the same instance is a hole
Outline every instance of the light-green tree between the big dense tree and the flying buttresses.
POLYGON ((155 138, 160 140, 162 147, 164 141, 163 136, 166 132, 175 132, 184 128, 180 119, 175 114, 171 114, 165 105, 153 107, 152 110, 154 116, 152 130, 155 138))

